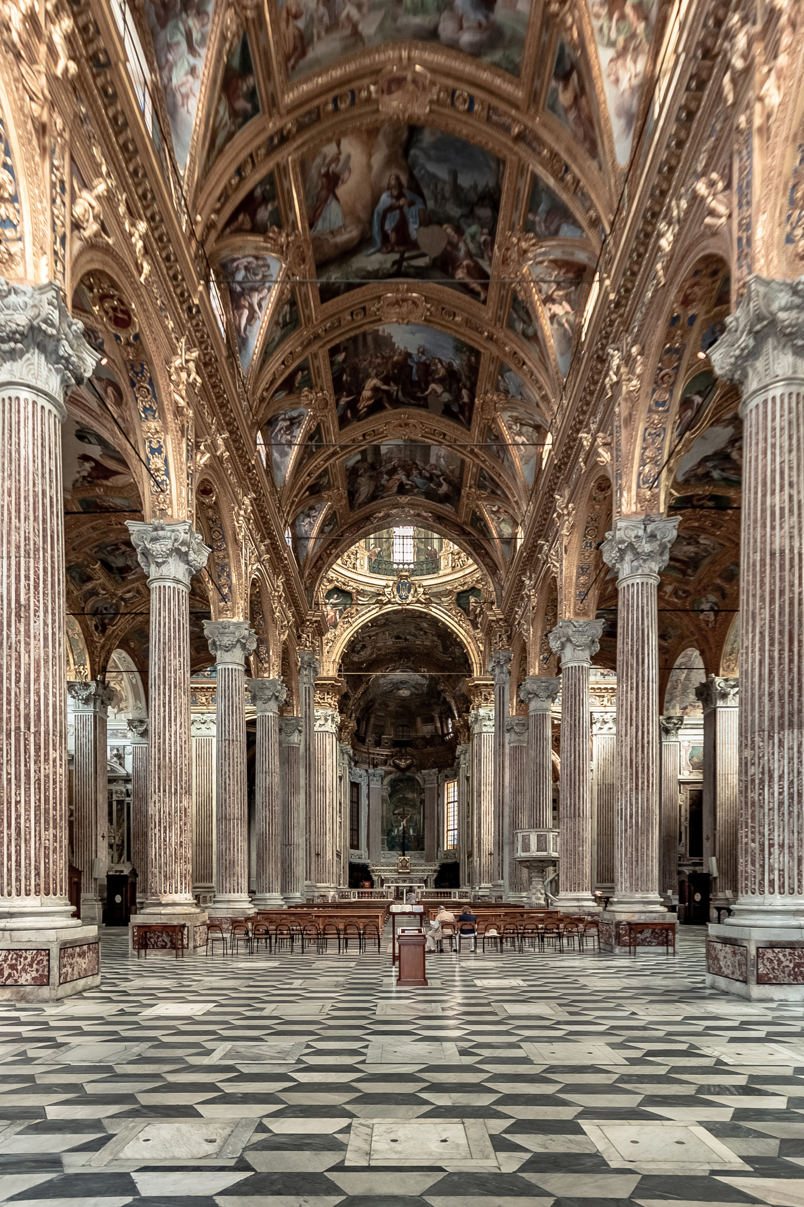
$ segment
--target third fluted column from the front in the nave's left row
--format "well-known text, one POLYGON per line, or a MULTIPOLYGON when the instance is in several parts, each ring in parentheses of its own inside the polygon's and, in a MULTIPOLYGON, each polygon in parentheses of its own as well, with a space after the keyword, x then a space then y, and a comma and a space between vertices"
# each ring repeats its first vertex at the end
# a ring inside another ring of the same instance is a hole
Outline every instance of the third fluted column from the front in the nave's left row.
POLYGON ((212 916, 253 912, 248 897, 248 782, 246 772, 246 657, 257 647, 247 620, 205 620, 215 658, 216 817, 215 903, 212 916))

